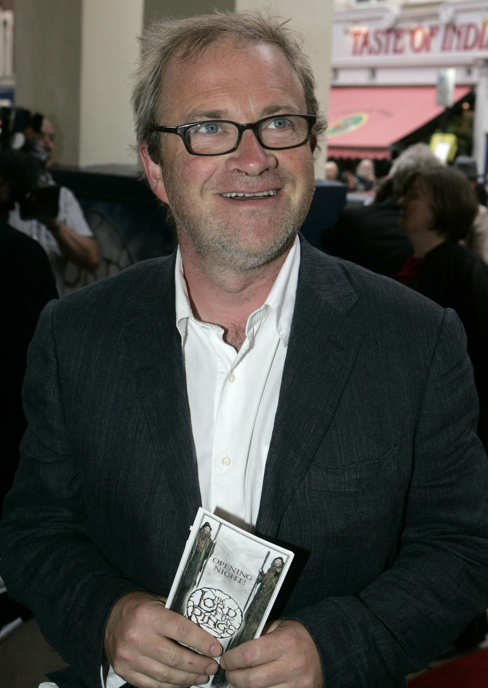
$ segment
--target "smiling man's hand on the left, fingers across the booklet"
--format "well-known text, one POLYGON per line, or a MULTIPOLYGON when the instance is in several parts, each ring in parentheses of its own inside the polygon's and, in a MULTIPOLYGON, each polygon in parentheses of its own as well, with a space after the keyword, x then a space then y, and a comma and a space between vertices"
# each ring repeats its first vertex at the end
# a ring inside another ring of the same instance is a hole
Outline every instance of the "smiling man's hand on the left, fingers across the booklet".
POLYGON ((212 657, 221 654, 221 645, 197 624, 166 609, 164 601, 149 592, 129 592, 115 603, 105 629, 107 659, 118 676, 137 688, 206 683, 219 668, 212 657))

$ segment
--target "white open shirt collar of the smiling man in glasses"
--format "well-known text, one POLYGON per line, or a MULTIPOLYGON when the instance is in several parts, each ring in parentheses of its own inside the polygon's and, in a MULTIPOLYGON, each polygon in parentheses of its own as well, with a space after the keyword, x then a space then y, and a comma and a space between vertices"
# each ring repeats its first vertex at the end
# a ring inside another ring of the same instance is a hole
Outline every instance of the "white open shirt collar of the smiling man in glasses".
MULTIPOLYGON (((276 330, 285 346, 288 345, 291 329, 299 268, 300 240, 298 237, 295 237, 295 241, 293 241, 265 302, 249 316, 249 319, 251 319, 256 313, 271 309, 276 314, 276 330)), ((188 319, 194 318, 194 316, 190 306, 190 299, 188 298, 188 288, 184 277, 183 261, 181 260, 179 246, 177 248, 175 264, 175 294, 176 326, 181 338, 184 339, 188 327, 188 319)))

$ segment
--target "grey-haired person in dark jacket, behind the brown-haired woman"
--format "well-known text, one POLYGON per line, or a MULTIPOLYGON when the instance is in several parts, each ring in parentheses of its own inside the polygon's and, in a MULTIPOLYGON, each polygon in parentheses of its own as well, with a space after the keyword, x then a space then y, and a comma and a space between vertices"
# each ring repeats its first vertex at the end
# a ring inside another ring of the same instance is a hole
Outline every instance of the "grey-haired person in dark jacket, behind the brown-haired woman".
POLYGON ((408 175, 421 167, 439 166, 428 145, 414 144, 392 164, 388 178, 368 205, 348 205, 334 226, 322 232, 327 253, 393 277, 412 253, 412 244, 399 228, 399 197, 408 175))

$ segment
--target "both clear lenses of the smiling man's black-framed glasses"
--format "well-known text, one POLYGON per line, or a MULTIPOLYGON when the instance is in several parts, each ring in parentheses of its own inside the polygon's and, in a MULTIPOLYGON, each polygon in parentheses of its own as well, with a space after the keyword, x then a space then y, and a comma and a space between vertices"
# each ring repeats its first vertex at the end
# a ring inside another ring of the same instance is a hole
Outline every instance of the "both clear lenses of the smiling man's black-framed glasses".
MULTIPOLYGON (((256 135, 269 148, 298 146, 307 139, 309 125, 299 116, 269 117, 258 124, 256 135)), ((239 138, 232 122, 204 122, 186 131, 186 142, 194 153, 231 151, 239 138)))

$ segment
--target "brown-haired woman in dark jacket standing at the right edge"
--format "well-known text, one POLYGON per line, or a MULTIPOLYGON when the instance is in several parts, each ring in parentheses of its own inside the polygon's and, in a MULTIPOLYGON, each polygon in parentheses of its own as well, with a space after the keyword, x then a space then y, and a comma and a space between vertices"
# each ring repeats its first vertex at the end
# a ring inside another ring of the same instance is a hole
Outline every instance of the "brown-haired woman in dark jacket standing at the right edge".
MULTIPOLYGON (((454 308, 467 335, 476 390, 480 400, 478 436, 488 451, 488 266, 460 244, 478 212, 478 200, 467 177, 452 167, 414 173, 399 200, 399 226, 413 246, 397 279, 454 308)), ((486 613, 476 616, 446 654, 483 642, 486 613)))

